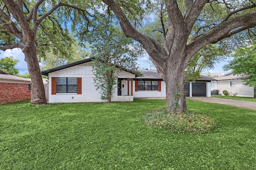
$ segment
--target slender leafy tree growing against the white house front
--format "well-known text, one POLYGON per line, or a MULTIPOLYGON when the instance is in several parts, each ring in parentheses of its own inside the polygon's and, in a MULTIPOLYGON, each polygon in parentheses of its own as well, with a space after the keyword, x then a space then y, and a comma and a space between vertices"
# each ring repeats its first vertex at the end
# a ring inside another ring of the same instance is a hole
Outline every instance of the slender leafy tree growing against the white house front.
POLYGON ((100 90, 101 99, 110 103, 118 75, 125 69, 136 72, 136 61, 144 51, 115 26, 107 25, 95 33, 97 35, 90 37, 94 47, 92 53, 96 56, 93 62, 94 85, 100 90))

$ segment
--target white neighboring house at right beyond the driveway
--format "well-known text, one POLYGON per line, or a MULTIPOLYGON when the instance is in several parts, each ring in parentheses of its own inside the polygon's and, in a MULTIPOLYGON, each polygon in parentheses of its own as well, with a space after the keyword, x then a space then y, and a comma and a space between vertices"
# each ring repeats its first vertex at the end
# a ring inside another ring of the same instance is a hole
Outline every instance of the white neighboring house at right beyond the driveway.
POLYGON ((216 81, 212 81, 211 89, 213 94, 222 95, 223 90, 228 90, 230 96, 240 97, 254 97, 256 89, 255 87, 246 86, 243 84, 243 78, 249 76, 233 75, 232 72, 224 74, 224 76, 216 77, 216 81))

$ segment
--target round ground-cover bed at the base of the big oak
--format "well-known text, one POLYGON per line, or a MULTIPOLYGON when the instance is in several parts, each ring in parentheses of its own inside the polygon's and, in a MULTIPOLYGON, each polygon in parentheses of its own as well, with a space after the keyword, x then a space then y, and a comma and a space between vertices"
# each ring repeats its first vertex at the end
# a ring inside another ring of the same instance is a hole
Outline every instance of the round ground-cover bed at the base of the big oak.
POLYGON ((189 110, 184 113, 167 113, 165 108, 147 112, 143 121, 178 133, 208 133, 215 125, 214 119, 207 115, 189 110))

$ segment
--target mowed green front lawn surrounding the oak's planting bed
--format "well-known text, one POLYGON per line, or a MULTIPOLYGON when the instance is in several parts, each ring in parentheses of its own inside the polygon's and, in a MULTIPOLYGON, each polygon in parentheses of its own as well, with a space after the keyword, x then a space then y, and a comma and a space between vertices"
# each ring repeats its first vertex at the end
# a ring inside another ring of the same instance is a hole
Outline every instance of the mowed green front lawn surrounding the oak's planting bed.
POLYGON ((0 106, 0 169, 255 169, 256 110, 187 100, 208 134, 143 123, 165 100, 0 106))

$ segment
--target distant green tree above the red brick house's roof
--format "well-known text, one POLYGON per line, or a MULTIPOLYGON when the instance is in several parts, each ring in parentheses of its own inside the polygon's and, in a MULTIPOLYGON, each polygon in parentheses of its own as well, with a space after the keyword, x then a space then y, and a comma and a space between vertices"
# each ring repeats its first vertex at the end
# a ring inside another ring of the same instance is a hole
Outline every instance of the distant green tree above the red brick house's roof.
POLYGON ((19 62, 19 60, 14 59, 13 57, 5 57, 0 59, 0 68, 6 70, 11 75, 17 75, 19 70, 15 68, 15 65, 19 62))

